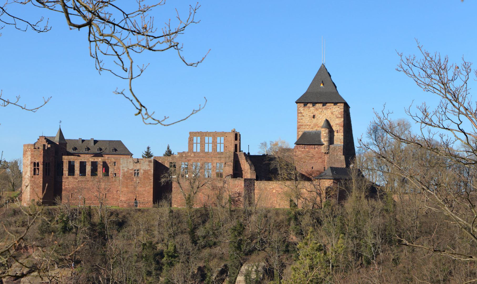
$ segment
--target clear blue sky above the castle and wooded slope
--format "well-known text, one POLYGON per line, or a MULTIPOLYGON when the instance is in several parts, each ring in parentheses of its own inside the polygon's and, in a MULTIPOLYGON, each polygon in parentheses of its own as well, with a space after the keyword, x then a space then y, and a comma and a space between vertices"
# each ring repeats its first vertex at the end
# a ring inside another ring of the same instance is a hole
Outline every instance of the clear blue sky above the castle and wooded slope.
MULTIPOLYGON (((119 2, 117 2, 119 3, 119 2)), ((156 24, 185 15, 193 1, 167 1, 158 7, 156 24)), ((29 106, 51 101, 31 113, 16 106, 0 108, 0 151, 21 158, 22 145, 42 133, 54 136, 62 120, 65 138, 122 140, 140 158, 150 146, 161 156, 167 144, 187 150, 189 131, 241 133, 242 150, 254 154, 264 140, 296 140, 296 104, 321 64, 321 36, 326 40, 326 67, 351 106, 355 140, 383 105, 404 117, 413 100, 435 105, 404 74, 395 71, 396 51, 425 49, 449 55, 450 62, 476 62, 476 3, 427 1, 202 1, 201 22, 179 37, 186 59, 174 51, 143 53, 135 63, 150 63, 135 83, 136 94, 158 116, 180 119, 194 107, 207 106, 173 126, 147 126, 132 105, 114 95, 127 82, 99 75, 89 57, 85 31, 69 30, 60 14, 28 5, 10 12, 36 19, 43 13, 52 30, 37 34, 6 26, 0 32, 2 98, 21 96, 29 106)), ((471 84, 475 84, 473 81, 471 84)), ((355 142, 357 145, 357 143, 355 142)))

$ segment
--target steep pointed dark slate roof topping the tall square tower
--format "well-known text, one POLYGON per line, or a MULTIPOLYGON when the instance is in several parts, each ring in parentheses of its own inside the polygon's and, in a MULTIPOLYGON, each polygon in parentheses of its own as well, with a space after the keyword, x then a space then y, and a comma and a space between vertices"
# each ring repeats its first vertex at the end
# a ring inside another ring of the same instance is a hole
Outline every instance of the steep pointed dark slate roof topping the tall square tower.
POLYGON ((321 64, 310 86, 295 103, 346 103, 346 101, 336 90, 336 85, 325 65, 321 64))

